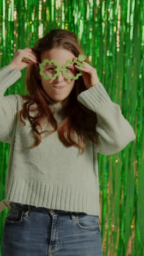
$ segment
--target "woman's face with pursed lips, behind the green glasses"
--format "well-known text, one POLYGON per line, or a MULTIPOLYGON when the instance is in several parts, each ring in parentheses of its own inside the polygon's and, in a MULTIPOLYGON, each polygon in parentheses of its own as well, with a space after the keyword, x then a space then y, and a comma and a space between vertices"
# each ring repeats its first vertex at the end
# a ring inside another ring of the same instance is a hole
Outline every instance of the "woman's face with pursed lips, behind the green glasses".
MULTIPOLYGON (((41 54, 41 63, 47 59, 52 60, 55 59, 59 66, 62 68, 63 64, 67 60, 74 60, 75 55, 70 51, 62 49, 62 48, 53 48, 49 51, 45 51, 41 54)), ((52 72, 52 71, 51 71, 52 72)), ((53 100, 57 102, 62 102, 65 98, 67 98, 70 92, 74 88, 75 79, 67 79, 63 76, 62 72, 56 77, 55 80, 44 79, 43 76, 40 75, 41 84, 46 92, 53 100), (65 86, 62 89, 54 88, 53 86, 65 86)))

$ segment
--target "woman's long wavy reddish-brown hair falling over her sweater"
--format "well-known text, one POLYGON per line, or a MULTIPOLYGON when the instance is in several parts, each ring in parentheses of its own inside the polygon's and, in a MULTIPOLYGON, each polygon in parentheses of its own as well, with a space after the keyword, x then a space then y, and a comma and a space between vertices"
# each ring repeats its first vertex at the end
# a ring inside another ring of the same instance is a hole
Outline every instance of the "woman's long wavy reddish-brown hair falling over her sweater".
MULTIPOLYGON (((44 51, 51 50, 52 48, 63 48, 69 50, 76 57, 78 57, 79 54, 85 55, 81 48, 81 42, 77 38, 76 34, 61 28, 55 28, 49 33, 45 34, 43 38, 40 38, 37 42, 35 42, 32 50, 35 54, 37 54, 38 60, 41 62, 41 54, 44 51)), ((89 63, 88 59, 85 61, 89 63)), ((42 140, 41 133, 47 132, 46 136, 49 136, 55 131, 58 132, 58 137, 65 146, 75 146, 82 150, 82 154, 85 150, 86 137, 89 138, 94 144, 98 145, 98 133, 95 130, 95 126, 97 124, 97 114, 86 108, 77 100, 77 96, 82 91, 87 90, 86 85, 83 82, 82 75, 79 77, 79 79, 75 80, 73 90, 62 102, 65 112, 65 119, 62 121, 62 124, 58 126, 57 121, 49 107, 50 104, 55 104, 56 101, 45 93, 43 86, 41 85, 41 79, 38 75, 39 72, 39 65, 29 65, 27 67, 27 95, 21 95, 26 102, 23 103, 22 109, 18 115, 21 123, 24 126, 26 123, 22 120, 22 117, 29 120, 29 123, 32 126, 32 131, 35 134, 36 140, 31 147, 34 148, 39 146, 42 140), (32 111, 38 110, 38 113, 32 117, 29 115, 29 109, 35 103, 36 106, 32 111), (45 118, 49 121, 53 127, 53 130, 42 131, 41 124, 45 118), (38 131, 38 127, 40 127, 41 132, 38 131), (80 143, 75 141, 75 135, 80 138, 80 143)))

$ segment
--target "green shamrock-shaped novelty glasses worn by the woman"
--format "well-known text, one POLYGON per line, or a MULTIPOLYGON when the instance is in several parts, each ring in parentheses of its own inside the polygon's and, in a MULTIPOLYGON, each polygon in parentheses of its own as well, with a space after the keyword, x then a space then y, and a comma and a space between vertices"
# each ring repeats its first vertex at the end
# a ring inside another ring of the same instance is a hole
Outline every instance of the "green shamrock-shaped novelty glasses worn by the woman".
POLYGON ((86 57, 82 54, 79 54, 78 59, 67 60, 62 68, 59 66, 59 64, 56 62, 56 60, 52 59, 51 61, 45 59, 43 63, 39 63, 40 67, 40 75, 44 77, 44 79, 51 79, 55 80, 56 77, 59 75, 59 72, 62 71, 63 75, 67 79, 78 79, 80 75, 82 75, 82 71, 78 71, 74 67, 74 63, 76 63, 77 66, 83 67, 83 61, 86 59, 86 57), (54 65, 52 65, 52 63, 54 65), (70 70, 68 70, 70 69, 70 70), (77 73, 77 71, 79 73, 77 73))

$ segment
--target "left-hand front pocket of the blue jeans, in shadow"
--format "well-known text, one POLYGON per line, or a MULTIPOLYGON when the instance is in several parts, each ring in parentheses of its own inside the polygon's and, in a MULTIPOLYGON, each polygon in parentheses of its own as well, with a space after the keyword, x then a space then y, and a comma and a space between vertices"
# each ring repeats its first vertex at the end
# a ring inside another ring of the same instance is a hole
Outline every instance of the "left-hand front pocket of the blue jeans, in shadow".
POLYGON ((16 208, 11 206, 10 210, 8 212, 8 215, 5 219, 5 222, 13 223, 13 224, 14 223, 21 223, 25 219, 24 213, 25 213, 25 211, 20 210, 20 209, 16 209, 16 208))

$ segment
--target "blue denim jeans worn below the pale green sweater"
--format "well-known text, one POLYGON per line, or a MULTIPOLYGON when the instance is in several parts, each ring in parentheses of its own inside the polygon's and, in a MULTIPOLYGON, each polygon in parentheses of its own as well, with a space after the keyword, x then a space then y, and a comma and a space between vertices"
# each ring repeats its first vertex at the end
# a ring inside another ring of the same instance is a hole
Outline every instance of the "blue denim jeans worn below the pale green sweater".
POLYGON ((10 202, 2 256, 101 256, 99 217, 10 202))

